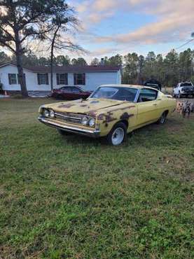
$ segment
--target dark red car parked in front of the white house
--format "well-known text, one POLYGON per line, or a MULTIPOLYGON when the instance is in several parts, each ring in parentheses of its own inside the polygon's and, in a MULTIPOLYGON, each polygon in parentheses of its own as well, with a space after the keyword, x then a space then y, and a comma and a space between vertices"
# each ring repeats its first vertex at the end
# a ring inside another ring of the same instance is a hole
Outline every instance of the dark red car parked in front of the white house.
POLYGON ((90 96, 92 92, 84 91, 81 87, 77 86, 63 86, 59 89, 54 89, 51 92, 50 97, 66 99, 66 100, 76 100, 76 99, 86 99, 90 96))

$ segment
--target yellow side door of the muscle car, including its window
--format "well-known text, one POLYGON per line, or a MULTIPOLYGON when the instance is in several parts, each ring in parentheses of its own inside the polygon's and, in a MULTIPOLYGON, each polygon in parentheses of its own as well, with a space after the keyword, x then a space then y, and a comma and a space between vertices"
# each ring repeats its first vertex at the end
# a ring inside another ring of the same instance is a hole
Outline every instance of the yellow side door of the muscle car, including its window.
POLYGON ((148 88, 140 90, 137 100, 137 125, 146 125, 159 117, 158 91, 148 88))

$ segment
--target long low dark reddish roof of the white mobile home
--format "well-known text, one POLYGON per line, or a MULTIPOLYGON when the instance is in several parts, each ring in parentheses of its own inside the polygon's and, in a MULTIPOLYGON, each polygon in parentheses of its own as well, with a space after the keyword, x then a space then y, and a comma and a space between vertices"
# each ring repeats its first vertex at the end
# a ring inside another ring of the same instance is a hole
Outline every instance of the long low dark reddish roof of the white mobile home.
MULTIPOLYGON (((7 66, 16 64, 13 63, 6 63, 0 64, 1 66, 7 66)), ((23 66, 24 69, 28 69, 33 72, 49 72, 50 66, 23 66)), ((105 66, 105 65, 98 65, 98 66, 53 66, 54 72, 111 72, 111 71, 119 71, 120 66, 105 66)))

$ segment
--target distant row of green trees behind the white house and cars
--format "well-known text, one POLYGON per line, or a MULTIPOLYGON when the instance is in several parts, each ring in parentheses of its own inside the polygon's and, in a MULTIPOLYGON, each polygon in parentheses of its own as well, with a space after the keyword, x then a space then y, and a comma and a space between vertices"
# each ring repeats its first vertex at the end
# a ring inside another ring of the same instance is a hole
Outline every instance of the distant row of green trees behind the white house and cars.
MULTIPOLYGON (((162 85, 174 86, 183 80, 191 80, 194 83, 194 50, 184 50, 180 53, 171 50, 165 57, 155 55, 153 51, 144 57, 135 52, 127 55, 114 55, 112 57, 95 57, 91 62, 86 62, 83 57, 70 58, 68 55, 53 57, 53 65, 111 65, 121 66, 122 83, 142 84, 145 80, 154 78, 162 85)), ((9 57, 5 52, 0 52, 0 62, 15 62, 15 56, 9 57)), ((36 55, 22 55, 23 66, 50 66, 50 57, 37 57, 36 55)))

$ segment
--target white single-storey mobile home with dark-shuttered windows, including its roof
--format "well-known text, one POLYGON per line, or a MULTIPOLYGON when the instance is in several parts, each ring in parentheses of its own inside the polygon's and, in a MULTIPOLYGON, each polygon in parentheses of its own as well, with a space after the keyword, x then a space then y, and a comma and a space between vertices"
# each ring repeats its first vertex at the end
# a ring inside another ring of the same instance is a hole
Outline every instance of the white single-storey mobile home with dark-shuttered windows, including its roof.
MULTIPOLYGON (((31 66, 24 68, 28 91, 50 91, 50 66, 31 66)), ((18 69, 15 64, 0 65, 0 83, 7 92, 20 91, 18 69)), ((55 66, 53 87, 79 85, 84 90, 95 90, 102 84, 120 84, 120 66, 55 66)))

